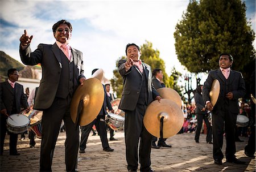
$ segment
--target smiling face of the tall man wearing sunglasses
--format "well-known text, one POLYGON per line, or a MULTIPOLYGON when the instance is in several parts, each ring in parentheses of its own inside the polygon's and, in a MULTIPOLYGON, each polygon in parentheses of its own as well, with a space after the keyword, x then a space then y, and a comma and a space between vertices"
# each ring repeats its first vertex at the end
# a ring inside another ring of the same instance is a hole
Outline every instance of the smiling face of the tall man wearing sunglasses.
POLYGON ((53 33, 55 39, 62 44, 68 44, 71 39, 71 30, 67 24, 60 24, 56 31, 53 33))

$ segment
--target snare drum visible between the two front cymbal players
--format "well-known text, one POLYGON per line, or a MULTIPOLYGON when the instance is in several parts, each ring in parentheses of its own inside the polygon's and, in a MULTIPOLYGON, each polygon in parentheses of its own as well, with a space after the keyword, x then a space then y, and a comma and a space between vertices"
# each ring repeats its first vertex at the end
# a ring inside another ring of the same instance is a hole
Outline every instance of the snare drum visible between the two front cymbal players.
POLYGON ((123 124, 125 124, 125 118, 117 114, 109 113, 106 116, 105 122, 113 130, 121 130, 123 128, 123 124))

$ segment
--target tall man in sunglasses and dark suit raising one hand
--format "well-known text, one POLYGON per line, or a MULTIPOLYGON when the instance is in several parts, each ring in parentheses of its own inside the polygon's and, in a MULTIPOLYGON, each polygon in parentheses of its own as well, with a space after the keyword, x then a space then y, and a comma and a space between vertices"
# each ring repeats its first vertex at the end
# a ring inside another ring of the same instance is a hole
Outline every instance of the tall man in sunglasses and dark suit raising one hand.
POLYGON ((69 46, 72 25, 67 20, 57 21, 52 27, 55 44, 39 44, 32 52, 32 36, 24 31, 20 37, 20 58, 25 65, 42 66, 42 80, 35 97, 34 109, 43 110, 40 171, 51 171, 53 151, 64 121, 65 163, 67 171, 75 171, 79 150, 79 127, 70 115, 73 93, 85 80, 82 53, 69 46))

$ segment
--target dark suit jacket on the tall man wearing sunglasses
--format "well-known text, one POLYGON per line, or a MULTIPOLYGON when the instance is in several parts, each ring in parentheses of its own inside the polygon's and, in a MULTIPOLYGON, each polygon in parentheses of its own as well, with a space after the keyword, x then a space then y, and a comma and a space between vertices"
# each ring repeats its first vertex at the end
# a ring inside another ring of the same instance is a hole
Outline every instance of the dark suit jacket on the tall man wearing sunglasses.
MULTIPOLYGON (((43 110, 52 105, 60 81, 60 73, 63 67, 61 63, 60 49, 57 44, 39 44, 38 49, 31 52, 30 46, 22 50, 20 47, 20 58, 25 65, 42 66, 42 80, 35 98, 34 109, 43 110)), ((74 91, 79 85, 79 79, 84 77, 82 53, 71 48, 74 62, 74 91)))

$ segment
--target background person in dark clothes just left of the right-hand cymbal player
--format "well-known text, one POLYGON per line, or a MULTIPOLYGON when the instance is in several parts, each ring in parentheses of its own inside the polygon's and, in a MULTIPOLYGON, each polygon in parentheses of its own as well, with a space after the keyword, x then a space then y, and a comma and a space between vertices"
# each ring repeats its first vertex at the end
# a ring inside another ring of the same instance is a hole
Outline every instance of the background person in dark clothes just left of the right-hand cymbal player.
POLYGON ((202 89, 203 89, 203 85, 198 85, 196 88, 195 96, 194 96, 195 102, 196 102, 196 118, 197 118, 195 140, 196 140, 196 143, 199 143, 200 132, 202 129, 202 124, 204 119, 204 122, 207 126, 206 141, 207 143, 212 144, 212 126, 210 126, 210 122, 208 121, 208 118, 207 118, 207 109, 204 106, 202 89))

